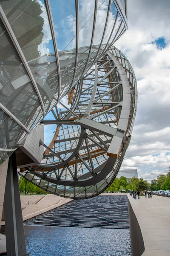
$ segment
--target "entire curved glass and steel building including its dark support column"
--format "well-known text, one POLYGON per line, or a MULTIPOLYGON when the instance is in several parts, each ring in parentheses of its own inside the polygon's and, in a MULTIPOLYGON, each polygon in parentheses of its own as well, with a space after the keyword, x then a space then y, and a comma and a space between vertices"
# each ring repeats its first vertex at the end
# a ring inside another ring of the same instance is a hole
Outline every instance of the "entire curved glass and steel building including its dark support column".
POLYGON ((99 195, 116 177, 137 107, 133 69, 113 46, 126 29, 127 0, 0 1, 7 255, 29 255, 17 168, 45 191, 75 199, 99 195), (55 127, 48 145, 44 125, 55 127))

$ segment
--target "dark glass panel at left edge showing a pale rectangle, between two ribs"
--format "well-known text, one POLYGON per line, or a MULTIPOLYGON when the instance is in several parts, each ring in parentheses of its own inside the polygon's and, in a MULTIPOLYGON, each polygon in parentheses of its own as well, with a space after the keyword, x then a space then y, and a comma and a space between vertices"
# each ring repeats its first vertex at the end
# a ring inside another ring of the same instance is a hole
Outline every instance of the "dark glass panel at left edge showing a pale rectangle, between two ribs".
POLYGON ((28 129, 42 119, 37 93, 0 23, 0 102, 28 129))

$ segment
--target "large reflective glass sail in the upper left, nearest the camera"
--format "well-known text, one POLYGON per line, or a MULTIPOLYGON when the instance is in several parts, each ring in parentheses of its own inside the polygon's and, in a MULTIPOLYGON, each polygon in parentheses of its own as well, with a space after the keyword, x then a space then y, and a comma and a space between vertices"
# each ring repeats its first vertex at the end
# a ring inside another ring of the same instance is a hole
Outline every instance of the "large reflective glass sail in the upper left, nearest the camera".
MULTIPOLYGON (((46 0, 0 2, 0 103, 29 131, 127 27, 113 0, 49 3, 51 11, 46 0)), ((9 146, 12 152, 26 132, 11 132, 10 126, 1 128, 1 134, 10 133, 1 142, 4 152, 9 146)))

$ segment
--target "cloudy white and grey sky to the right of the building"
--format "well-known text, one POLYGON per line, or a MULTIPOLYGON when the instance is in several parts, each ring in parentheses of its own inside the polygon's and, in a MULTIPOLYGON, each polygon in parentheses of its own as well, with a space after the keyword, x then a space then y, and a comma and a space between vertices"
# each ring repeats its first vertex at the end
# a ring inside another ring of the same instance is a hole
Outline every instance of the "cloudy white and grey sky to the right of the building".
POLYGON ((147 180, 170 166, 170 1, 128 1, 129 30, 116 42, 138 81, 138 109, 122 167, 140 169, 147 180), (165 48, 156 40, 164 38, 165 48))

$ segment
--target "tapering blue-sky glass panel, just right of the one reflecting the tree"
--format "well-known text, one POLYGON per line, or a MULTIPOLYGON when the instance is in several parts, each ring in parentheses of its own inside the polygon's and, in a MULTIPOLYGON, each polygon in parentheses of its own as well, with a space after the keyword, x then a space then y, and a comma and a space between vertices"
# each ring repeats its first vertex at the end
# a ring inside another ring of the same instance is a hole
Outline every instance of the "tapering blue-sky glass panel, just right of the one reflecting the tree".
POLYGON ((76 6, 75 0, 50 0, 59 51, 61 72, 60 98, 72 83, 76 58, 76 6))

